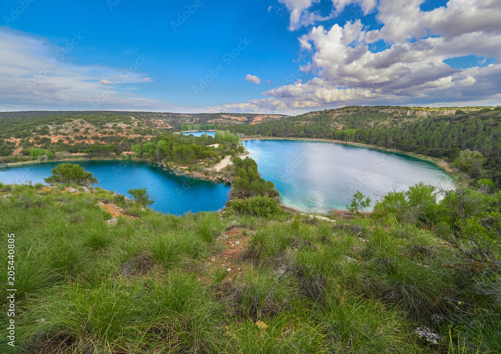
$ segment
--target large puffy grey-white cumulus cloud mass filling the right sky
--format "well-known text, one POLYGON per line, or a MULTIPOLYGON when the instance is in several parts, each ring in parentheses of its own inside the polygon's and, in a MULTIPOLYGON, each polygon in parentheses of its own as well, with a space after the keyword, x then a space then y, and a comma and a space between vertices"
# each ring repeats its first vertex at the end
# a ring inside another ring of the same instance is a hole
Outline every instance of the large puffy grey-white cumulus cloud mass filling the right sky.
MULTIPOLYGON (((298 29, 315 1, 280 0, 291 12, 290 29, 298 29)), ((500 104, 501 65, 486 59, 501 57, 501 2, 450 0, 422 11, 424 0, 333 0, 333 13, 350 3, 364 13, 377 11, 379 29, 361 19, 330 27, 318 25, 299 36, 303 65, 316 77, 267 90, 263 99, 232 103, 231 107, 303 109, 349 104, 465 105, 500 104), (382 40, 386 49, 371 50, 382 40), (451 67, 444 60, 474 54, 474 67, 451 67), (482 67, 480 67, 482 66, 482 67), (287 108, 285 108, 287 107, 287 108)))

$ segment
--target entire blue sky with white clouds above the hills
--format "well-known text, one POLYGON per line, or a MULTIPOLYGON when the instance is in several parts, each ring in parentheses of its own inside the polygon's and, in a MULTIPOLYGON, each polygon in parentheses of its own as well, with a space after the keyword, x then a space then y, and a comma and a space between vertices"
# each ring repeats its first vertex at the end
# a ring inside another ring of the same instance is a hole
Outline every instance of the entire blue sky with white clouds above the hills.
POLYGON ((501 104, 499 0, 0 0, 0 111, 501 104))

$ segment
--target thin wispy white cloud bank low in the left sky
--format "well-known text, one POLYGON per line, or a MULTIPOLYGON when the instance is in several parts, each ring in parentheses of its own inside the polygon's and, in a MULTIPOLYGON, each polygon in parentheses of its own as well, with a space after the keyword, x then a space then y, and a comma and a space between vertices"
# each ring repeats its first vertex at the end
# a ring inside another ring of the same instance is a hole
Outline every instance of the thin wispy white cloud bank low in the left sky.
POLYGON ((45 38, 0 27, 0 48, 0 110, 183 110, 120 91, 122 85, 141 82, 139 70, 124 79, 120 68, 71 64, 45 38))

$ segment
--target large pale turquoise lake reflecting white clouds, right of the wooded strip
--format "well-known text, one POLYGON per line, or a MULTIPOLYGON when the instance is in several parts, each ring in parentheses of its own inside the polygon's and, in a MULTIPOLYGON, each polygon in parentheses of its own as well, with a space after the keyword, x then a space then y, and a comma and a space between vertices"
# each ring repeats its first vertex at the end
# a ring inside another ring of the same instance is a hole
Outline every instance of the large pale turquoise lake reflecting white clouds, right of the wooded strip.
POLYGON ((285 205, 302 211, 346 209, 360 190, 372 205, 394 188, 420 181, 452 188, 453 180, 430 161, 348 144, 304 140, 248 140, 243 144, 263 178, 285 205))

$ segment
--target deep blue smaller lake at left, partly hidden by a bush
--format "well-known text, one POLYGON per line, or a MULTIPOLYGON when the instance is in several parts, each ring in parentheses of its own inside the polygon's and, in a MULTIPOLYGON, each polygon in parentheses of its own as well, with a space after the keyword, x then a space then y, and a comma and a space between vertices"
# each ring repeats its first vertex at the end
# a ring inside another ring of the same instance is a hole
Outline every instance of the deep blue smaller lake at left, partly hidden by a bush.
MULTIPOLYGON (((61 162, 33 163, 0 168, 0 182, 44 182, 51 169, 61 162)), ((228 200, 229 185, 177 176, 160 166, 132 161, 78 161, 99 181, 97 186, 127 195, 127 190, 146 187, 155 198, 151 208, 157 211, 182 215, 187 211, 215 211, 228 200), (126 163, 127 162, 127 163, 126 163)), ((130 195, 128 195, 130 196, 130 195)))

